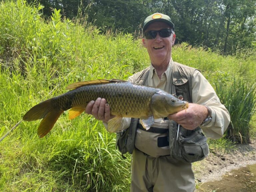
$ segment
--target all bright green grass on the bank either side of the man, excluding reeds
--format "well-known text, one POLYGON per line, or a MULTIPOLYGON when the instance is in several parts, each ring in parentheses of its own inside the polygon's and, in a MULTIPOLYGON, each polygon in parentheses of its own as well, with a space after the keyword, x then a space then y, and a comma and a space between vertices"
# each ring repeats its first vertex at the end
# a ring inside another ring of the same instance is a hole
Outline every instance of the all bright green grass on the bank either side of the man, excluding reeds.
MULTIPOLYGON (((82 18, 61 20, 57 10, 46 22, 42 8, 20 0, 0 3, 0 137, 68 84, 127 79, 150 62, 132 34, 102 34, 82 18)), ((233 76, 255 80, 254 54, 223 57, 183 43, 174 47, 173 59, 200 69, 212 84, 229 83, 233 76)), ((131 158, 123 160, 115 149, 115 134, 89 115, 72 121, 67 116, 42 139, 35 121, 22 122, 0 142, 0 191, 129 191, 131 158)), ((251 122, 255 135, 254 117, 251 122)), ((225 139, 210 145, 230 147, 225 139)))

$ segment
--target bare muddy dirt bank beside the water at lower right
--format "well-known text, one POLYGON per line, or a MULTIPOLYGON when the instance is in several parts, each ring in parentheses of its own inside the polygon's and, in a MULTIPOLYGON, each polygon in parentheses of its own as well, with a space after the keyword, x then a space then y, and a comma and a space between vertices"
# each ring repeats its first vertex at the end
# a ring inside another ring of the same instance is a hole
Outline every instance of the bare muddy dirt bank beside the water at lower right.
POLYGON ((220 180, 233 169, 256 164, 256 140, 248 145, 237 144, 235 148, 228 153, 212 151, 204 160, 193 164, 197 182, 220 180))

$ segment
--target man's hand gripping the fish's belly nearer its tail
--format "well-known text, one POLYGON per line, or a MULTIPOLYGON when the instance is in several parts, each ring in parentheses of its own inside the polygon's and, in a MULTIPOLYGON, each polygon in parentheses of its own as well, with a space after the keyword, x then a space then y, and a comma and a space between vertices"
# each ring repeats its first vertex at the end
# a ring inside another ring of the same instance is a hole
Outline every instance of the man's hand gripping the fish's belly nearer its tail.
POLYGON ((104 122, 108 122, 109 119, 115 117, 110 115, 110 107, 106 99, 100 97, 95 101, 90 101, 85 108, 85 112, 104 122))

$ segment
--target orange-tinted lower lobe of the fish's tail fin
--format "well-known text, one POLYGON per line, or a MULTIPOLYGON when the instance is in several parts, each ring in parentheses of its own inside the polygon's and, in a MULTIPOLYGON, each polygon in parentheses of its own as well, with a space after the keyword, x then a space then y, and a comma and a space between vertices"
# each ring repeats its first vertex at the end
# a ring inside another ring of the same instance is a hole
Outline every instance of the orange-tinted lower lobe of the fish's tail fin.
POLYGON ((39 138, 42 138, 47 133, 49 133, 49 131, 52 129, 53 125, 56 123, 59 116, 63 112, 63 110, 53 109, 45 116, 37 129, 37 135, 39 136, 39 138))

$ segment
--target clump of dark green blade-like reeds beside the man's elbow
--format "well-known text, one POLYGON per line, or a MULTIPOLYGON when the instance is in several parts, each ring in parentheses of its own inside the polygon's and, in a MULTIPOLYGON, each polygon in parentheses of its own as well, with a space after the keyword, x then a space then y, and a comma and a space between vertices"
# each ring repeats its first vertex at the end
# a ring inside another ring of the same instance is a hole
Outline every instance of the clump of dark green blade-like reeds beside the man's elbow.
POLYGON ((242 79, 233 79, 231 83, 216 83, 216 92, 231 116, 226 131, 227 137, 234 142, 250 141, 249 123, 256 107, 256 84, 242 79))

